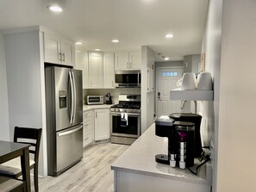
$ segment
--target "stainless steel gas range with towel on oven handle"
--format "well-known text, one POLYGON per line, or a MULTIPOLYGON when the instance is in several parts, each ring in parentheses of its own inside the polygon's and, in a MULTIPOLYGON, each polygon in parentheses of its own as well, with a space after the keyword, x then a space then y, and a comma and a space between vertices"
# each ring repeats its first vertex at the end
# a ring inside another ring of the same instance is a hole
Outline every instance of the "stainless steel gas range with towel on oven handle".
POLYGON ((140 95, 119 95, 110 108, 111 142, 131 145, 140 137, 140 95))

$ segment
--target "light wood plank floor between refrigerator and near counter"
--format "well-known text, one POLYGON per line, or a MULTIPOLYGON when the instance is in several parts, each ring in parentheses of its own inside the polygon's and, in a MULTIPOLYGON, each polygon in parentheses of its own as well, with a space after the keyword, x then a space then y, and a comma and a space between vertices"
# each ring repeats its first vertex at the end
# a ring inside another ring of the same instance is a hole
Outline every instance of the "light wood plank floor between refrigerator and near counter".
MULTIPOLYGON (((116 158, 128 146, 103 143, 84 149, 83 159, 59 177, 39 178, 40 191, 114 191, 114 172, 110 170, 116 158)), ((33 177, 31 178, 34 191, 33 177)))

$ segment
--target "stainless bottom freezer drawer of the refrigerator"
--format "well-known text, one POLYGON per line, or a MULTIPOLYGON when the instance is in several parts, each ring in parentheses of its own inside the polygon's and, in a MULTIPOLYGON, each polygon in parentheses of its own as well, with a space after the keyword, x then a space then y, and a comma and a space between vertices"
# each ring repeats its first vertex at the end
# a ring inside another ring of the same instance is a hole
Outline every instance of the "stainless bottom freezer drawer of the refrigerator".
POLYGON ((56 152, 57 175, 83 158, 83 125, 56 133, 56 152))

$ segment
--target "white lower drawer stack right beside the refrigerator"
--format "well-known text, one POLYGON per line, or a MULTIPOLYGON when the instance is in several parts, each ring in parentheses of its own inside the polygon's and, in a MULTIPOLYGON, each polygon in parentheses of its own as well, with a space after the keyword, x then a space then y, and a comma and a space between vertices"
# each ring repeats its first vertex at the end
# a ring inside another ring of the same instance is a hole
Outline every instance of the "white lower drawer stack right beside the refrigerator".
POLYGON ((93 110, 84 111, 83 113, 83 146, 89 146, 94 140, 94 114, 93 110))

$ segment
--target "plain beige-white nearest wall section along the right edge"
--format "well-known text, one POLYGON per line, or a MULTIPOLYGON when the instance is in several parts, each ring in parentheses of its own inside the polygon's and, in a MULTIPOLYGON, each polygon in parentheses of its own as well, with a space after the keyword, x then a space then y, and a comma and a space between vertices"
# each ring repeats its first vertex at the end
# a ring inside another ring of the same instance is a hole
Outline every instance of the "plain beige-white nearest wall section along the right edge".
POLYGON ((256 1, 223 0, 218 192, 255 191, 256 1))

